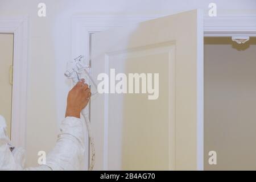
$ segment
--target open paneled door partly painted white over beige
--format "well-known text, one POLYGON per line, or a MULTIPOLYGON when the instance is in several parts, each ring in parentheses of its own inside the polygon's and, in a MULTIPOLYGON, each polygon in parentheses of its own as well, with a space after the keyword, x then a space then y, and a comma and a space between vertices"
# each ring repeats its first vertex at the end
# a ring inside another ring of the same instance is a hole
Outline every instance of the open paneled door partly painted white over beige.
POLYGON ((198 10, 93 34, 91 62, 98 87, 109 90, 91 102, 94 169, 203 169, 198 10))

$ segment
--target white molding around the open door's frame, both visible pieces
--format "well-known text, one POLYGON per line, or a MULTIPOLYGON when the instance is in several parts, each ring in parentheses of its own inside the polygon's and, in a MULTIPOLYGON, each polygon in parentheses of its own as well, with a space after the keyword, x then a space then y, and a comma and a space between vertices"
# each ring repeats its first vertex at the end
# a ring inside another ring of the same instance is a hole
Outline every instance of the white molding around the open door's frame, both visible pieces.
MULTIPOLYGON (((73 16, 72 57, 89 57, 90 33, 159 18, 156 16, 73 16)), ((204 16, 204 36, 256 36, 256 15, 204 16)), ((71 59, 72 59, 71 57, 71 59)))

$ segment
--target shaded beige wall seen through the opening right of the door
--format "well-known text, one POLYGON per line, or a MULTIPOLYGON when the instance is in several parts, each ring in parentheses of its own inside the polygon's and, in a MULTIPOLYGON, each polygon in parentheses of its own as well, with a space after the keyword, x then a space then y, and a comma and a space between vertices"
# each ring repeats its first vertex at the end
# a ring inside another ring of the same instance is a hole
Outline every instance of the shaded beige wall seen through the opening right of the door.
POLYGON ((256 169, 256 39, 205 39, 204 168, 256 169), (217 165, 208 152, 217 152, 217 165))

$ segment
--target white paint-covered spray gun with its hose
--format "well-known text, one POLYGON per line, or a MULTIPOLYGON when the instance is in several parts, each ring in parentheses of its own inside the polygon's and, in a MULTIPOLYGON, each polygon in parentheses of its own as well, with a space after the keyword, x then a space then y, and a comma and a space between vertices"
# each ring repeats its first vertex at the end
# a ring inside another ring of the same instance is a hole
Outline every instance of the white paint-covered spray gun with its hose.
MULTIPOLYGON (((92 97, 97 94, 97 85, 93 81, 92 77, 90 76, 90 66, 86 65, 84 56, 79 56, 79 57, 76 57, 74 60, 69 61, 67 63, 67 71, 64 73, 64 75, 67 78, 72 79, 73 85, 75 85, 78 81, 80 81, 82 78, 84 78, 86 84, 88 84, 89 88, 91 88, 92 97), (94 92, 93 92, 93 90, 94 90, 94 92)), ((85 107, 84 109, 82 109, 81 113, 85 119, 87 131, 88 131, 88 135, 89 135, 90 147, 91 147, 91 152, 92 152, 92 158, 90 161, 89 170, 92 170, 94 163, 95 163, 95 147, 94 147, 94 139, 92 136, 92 130, 90 128, 88 107, 85 107)))

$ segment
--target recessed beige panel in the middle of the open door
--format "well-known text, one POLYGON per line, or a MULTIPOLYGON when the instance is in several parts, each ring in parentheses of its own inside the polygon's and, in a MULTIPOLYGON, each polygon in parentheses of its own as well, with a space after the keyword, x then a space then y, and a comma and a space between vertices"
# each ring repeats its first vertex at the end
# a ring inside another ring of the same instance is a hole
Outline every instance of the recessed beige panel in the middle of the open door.
POLYGON ((168 108, 174 98, 168 86, 174 84, 174 76, 169 78, 174 69, 174 49, 170 43, 108 55, 108 67, 117 73, 161 73, 159 85, 166 85, 160 88, 157 100, 148 100, 148 94, 108 96, 109 111, 115 111, 109 114, 106 136, 109 169, 173 168, 174 121, 170 117, 174 113, 169 114, 168 108), (157 59, 159 63, 155 64, 157 59))

